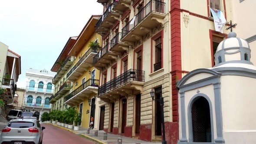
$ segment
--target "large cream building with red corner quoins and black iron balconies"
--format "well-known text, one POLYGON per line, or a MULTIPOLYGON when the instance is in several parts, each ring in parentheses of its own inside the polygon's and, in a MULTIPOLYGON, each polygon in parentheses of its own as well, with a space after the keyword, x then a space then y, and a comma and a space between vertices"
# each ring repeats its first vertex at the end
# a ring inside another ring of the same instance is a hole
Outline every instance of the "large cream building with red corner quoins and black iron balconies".
POLYGON ((234 7, 241 3, 231 0, 98 2, 104 6, 103 15, 96 23, 103 48, 93 61, 93 66, 100 70, 99 128, 145 141, 163 140, 160 102, 152 101, 150 92, 153 91, 154 99, 164 98, 166 141, 177 143, 177 80, 195 69, 215 65, 217 46, 226 39, 226 28, 236 17, 234 7))

